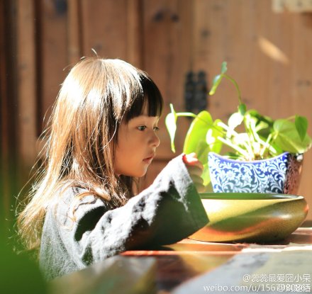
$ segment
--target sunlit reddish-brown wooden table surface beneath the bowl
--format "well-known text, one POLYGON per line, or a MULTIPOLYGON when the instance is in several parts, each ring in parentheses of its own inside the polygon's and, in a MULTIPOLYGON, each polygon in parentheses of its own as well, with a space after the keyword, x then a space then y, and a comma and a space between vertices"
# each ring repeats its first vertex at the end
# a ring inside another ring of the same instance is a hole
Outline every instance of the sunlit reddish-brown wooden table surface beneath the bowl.
MULTIPOLYGON (((302 264, 303 260, 303 266, 304 263, 308 262, 308 259, 312 258, 311 222, 306 222, 303 227, 299 227, 288 239, 279 244, 225 244, 184 239, 177 244, 161 247, 157 250, 126 251, 99 264, 89 266, 82 271, 57 278, 50 285, 52 293, 57 294, 205 293, 203 281, 209 281, 211 278, 211 281, 216 281, 218 277, 223 276, 223 273, 225 275, 224 281, 228 281, 230 276, 235 276, 233 273, 238 273, 239 269, 242 269, 239 264, 242 260, 246 261, 247 264, 247 266, 243 266, 244 272, 248 273, 247 276, 255 276, 253 273, 261 272, 261 270, 268 275, 269 270, 264 265, 267 264, 274 268, 274 266, 277 266, 274 265, 274 261, 277 261, 282 256, 279 254, 282 253, 288 254, 283 255, 286 256, 286 259, 296 259, 297 255, 294 255, 294 253, 300 254, 298 258, 301 261, 298 259, 298 262, 302 264), (254 262, 253 265, 250 264, 248 267, 251 258, 259 257, 263 259, 264 253, 267 261, 262 266, 255 268, 254 262), (233 266, 230 265, 230 262, 233 263, 233 266), (233 273, 229 274, 228 271, 233 271, 233 273), (198 281, 198 284, 196 284, 196 281, 198 281), (195 290, 194 292, 194 289, 198 289, 198 291, 195 290)), ((294 260, 294 262, 297 261, 294 260)), ((296 273, 298 271, 298 276, 299 273, 303 275, 303 273, 299 272, 301 264, 299 266, 283 265, 282 271, 284 275, 289 274, 289 271, 296 271, 296 273)), ((312 264, 310 268, 312 269, 312 264)), ((309 283, 311 286, 311 281, 308 280, 308 276, 312 276, 311 269, 304 272, 306 281, 301 281, 301 283, 309 283)), ((306 269, 303 271, 306 271, 306 269)), ((240 279, 243 279, 243 276, 240 279)), ((230 282, 228 281, 228 283, 230 282)), ((260 284, 258 283, 258 285, 260 284)), ((238 287, 238 285, 236 286, 238 287)), ((282 292, 277 291, 276 288, 269 288, 271 285, 268 286, 268 284, 264 283, 261 284, 262 288, 260 290, 265 290, 264 286, 271 292, 262 291, 262 293, 282 292)), ((244 290, 245 293, 251 292, 244 290)), ((260 292, 260 290, 257 292, 260 292)), ((237 290, 235 292, 240 293, 237 290)), ((298 289, 293 292, 299 293, 298 289)), ((218 293, 225 293, 225 291, 219 291, 218 293)), ((244 292, 241 291, 241 293, 244 292)))

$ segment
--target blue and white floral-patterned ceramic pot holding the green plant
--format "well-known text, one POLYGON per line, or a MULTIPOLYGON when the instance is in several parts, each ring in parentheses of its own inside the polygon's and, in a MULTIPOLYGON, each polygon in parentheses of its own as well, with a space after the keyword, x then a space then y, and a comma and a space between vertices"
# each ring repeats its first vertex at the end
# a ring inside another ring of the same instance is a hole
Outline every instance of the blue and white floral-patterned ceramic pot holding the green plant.
POLYGON ((209 152, 208 166, 213 192, 296 195, 302 159, 302 154, 294 156, 284 152, 270 159, 243 162, 209 152))

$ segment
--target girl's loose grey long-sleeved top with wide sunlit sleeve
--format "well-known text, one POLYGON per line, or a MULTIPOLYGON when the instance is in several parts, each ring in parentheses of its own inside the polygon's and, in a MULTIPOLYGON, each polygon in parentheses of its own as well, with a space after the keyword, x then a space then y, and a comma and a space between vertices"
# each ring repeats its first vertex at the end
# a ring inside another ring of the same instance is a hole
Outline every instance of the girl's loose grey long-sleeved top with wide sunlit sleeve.
POLYGON ((129 249, 178 242, 208 222, 182 161, 172 159, 143 192, 111 210, 101 198, 79 200, 81 188, 67 188, 45 215, 40 268, 50 280, 129 249), (72 208, 76 207, 74 217, 72 208))

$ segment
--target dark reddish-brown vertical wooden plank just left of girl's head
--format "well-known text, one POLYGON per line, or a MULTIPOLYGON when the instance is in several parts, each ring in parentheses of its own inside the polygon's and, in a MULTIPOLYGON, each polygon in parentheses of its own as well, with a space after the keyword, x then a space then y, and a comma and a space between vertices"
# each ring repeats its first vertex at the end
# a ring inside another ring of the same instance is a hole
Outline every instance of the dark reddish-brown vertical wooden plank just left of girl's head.
MULTIPOLYGON (((38 89, 40 96, 40 129, 48 122, 52 104, 55 102, 60 84, 68 73, 68 65, 74 61, 77 52, 75 45, 76 37, 68 37, 67 34, 74 34, 73 30, 67 32, 68 18, 67 7, 57 5, 57 1, 38 1, 40 6, 40 28, 38 38, 40 55, 38 89), (74 48, 73 48, 74 47, 74 48), (71 48, 71 49, 69 49, 71 48), (68 53, 67 53, 68 52, 68 53)), ((69 8, 72 6, 69 4, 69 8)), ((74 20, 72 20, 74 22, 74 20)))

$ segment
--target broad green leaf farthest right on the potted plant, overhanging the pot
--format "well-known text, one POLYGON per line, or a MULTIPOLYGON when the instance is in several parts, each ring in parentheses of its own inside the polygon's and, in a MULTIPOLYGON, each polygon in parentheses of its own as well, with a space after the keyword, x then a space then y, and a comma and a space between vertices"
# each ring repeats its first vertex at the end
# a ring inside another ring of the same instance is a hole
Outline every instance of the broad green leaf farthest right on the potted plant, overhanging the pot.
POLYGON ((306 134, 303 140, 301 140, 295 123, 289 120, 279 119, 275 120, 273 128, 275 132, 274 143, 284 151, 291 153, 303 153, 311 147, 311 137, 306 134))

